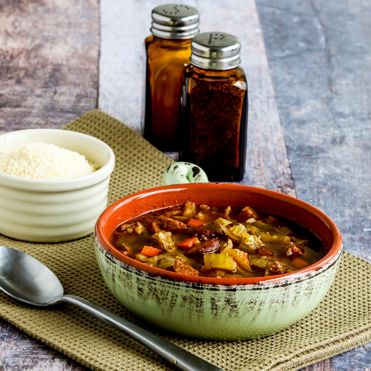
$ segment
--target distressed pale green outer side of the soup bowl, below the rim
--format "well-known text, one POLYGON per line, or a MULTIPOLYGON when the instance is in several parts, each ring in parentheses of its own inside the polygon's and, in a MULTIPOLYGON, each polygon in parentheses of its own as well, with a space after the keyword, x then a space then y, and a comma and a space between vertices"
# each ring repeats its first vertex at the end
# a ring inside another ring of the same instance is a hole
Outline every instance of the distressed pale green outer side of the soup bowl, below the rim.
POLYGON ((329 290, 339 256, 303 278, 253 285, 205 285, 153 275, 110 256, 95 239, 103 278, 115 298, 140 318, 180 335, 209 340, 274 334, 311 312, 329 290))

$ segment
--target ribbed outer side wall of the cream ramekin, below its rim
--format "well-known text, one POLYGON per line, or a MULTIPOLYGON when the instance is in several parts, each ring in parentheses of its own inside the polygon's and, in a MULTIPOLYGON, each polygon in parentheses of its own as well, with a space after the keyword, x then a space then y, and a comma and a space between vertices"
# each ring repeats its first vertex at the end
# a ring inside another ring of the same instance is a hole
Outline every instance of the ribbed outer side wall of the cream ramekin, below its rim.
POLYGON ((110 177, 71 191, 24 191, 0 185, 0 233, 30 242, 62 242, 93 232, 107 206, 110 177))

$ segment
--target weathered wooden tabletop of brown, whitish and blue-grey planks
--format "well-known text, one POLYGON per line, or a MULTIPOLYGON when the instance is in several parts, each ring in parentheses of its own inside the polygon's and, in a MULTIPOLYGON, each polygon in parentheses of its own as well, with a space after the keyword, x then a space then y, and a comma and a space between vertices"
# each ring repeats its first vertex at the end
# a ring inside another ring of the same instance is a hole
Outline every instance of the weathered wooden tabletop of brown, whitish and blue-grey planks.
MULTIPOLYGON (((58 128, 94 108, 141 132, 142 42, 163 2, 2 0, 0 133, 58 128)), ((370 1, 185 3, 200 11, 201 31, 242 42, 249 129, 241 183, 322 209, 344 249, 371 261, 370 1)), ((369 371, 370 349, 305 370, 369 371)), ((0 370, 87 369, 0 320, 0 370)))

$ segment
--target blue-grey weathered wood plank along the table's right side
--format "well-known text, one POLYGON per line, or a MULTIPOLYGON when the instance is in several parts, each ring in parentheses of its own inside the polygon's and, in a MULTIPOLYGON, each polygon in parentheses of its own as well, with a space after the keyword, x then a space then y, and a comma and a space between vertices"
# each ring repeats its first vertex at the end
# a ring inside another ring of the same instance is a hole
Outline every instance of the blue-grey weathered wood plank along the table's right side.
MULTIPOLYGON (((371 3, 257 0, 298 197, 371 261, 371 3)), ((364 347, 332 358, 368 370, 364 347)))

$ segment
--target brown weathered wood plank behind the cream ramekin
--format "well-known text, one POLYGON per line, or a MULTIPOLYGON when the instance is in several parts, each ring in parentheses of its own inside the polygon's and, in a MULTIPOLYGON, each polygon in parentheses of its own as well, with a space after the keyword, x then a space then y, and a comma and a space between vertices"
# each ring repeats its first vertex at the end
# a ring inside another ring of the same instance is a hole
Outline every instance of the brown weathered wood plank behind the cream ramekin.
POLYGON ((0 133, 96 108, 98 0, 2 0, 0 35, 0 133))

